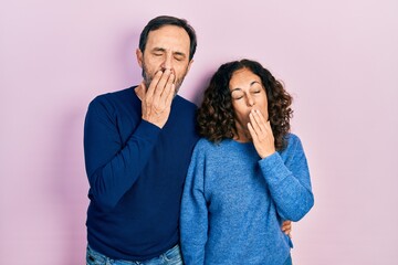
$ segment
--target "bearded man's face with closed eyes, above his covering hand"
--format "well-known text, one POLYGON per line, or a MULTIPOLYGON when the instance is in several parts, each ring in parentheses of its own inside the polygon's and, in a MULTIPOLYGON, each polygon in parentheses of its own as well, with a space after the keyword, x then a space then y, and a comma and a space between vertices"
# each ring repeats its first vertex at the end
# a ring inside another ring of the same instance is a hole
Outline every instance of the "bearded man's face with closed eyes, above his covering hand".
POLYGON ((190 39, 182 28, 165 25, 150 31, 144 53, 137 50, 146 87, 149 87, 158 71, 169 68, 176 75, 177 93, 192 63, 189 61, 189 47, 190 39))

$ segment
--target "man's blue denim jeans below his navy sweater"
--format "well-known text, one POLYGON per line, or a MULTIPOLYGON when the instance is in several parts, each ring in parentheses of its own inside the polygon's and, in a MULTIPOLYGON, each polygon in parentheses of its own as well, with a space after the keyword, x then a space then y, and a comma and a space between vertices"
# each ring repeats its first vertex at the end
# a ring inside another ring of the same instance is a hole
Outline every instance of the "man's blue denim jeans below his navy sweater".
POLYGON ((87 246, 86 265, 182 265, 179 245, 168 250, 158 257, 136 262, 109 258, 87 246))

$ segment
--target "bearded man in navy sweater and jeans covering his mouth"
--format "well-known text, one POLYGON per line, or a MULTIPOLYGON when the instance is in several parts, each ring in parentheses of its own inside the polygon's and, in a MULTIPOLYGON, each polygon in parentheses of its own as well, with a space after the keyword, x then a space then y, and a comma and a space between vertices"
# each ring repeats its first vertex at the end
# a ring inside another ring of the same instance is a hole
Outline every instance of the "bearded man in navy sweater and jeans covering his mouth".
POLYGON ((177 92, 196 46, 186 20, 150 20, 136 51, 144 81, 88 106, 87 264, 182 264, 180 199, 198 135, 197 107, 177 92))

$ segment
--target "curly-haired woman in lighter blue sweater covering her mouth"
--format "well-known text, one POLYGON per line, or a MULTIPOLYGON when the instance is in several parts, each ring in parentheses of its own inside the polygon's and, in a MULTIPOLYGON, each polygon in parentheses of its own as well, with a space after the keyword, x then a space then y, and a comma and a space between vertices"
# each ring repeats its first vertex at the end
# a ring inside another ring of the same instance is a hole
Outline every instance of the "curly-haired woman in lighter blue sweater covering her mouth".
POLYGON ((261 64, 226 63, 198 113, 186 179, 181 247, 191 264, 292 264, 284 220, 313 206, 302 144, 290 134, 292 97, 261 64))

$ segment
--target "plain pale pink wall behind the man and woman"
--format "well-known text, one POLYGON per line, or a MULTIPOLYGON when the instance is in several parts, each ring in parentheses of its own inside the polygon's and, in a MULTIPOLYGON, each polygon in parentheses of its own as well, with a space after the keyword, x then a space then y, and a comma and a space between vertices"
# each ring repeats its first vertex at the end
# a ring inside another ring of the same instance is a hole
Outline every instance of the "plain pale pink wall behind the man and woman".
POLYGON ((199 36, 186 98, 240 57, 294 95, 315 193, 294 264, 398 264, 396 0, 2 1, 0 263, 84 264, 85 110, 140 81, 138 34, 158 14, 199 36))

